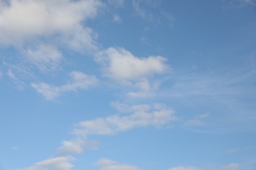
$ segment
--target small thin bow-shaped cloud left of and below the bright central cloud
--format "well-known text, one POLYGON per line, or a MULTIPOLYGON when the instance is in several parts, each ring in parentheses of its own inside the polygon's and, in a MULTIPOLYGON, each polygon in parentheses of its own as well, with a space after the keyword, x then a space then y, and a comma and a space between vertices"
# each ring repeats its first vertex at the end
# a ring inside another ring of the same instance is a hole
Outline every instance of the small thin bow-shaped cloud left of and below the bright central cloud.
POLYGON ((75 90, 85 90, 90 86, 93 86, 97 83, 95 76, 86 75, 80 71, 72 71, 70 73, 72 78, 71 82, 64 84, 62 86, 53 86, 46 83, 32 83, 32 88, 35 88, 38 93, 41 93, 43 97, 47 100, 54 100, 58 95, 64 92, 72 92, 75 90))

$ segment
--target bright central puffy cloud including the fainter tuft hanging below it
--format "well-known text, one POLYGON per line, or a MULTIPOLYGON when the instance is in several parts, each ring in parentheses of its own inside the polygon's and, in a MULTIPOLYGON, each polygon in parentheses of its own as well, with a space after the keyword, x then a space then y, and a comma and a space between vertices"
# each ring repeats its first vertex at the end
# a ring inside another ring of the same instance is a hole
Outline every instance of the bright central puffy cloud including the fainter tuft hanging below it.
POLYGON ((130 87, 131 97, 149 97, 158 90, 161 81, 154 75, 163 75, 170 71, 167 59, 161 56, 138 58, 124 48, 108 48, 99 52, 95 60, 102 64, 105 76, 117 83, 130 87))

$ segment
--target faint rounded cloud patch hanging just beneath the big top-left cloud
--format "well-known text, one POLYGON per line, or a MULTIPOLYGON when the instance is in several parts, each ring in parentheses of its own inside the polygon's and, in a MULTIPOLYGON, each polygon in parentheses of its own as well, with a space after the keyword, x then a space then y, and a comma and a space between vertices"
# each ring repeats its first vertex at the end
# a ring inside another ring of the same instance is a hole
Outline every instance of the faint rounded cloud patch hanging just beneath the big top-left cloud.
POLYGON ((62 54, 58 49, 49 44, 40 44, 34 49, 27 49, 25 54, 41 71, 56 69, 62 59, 62 54))

